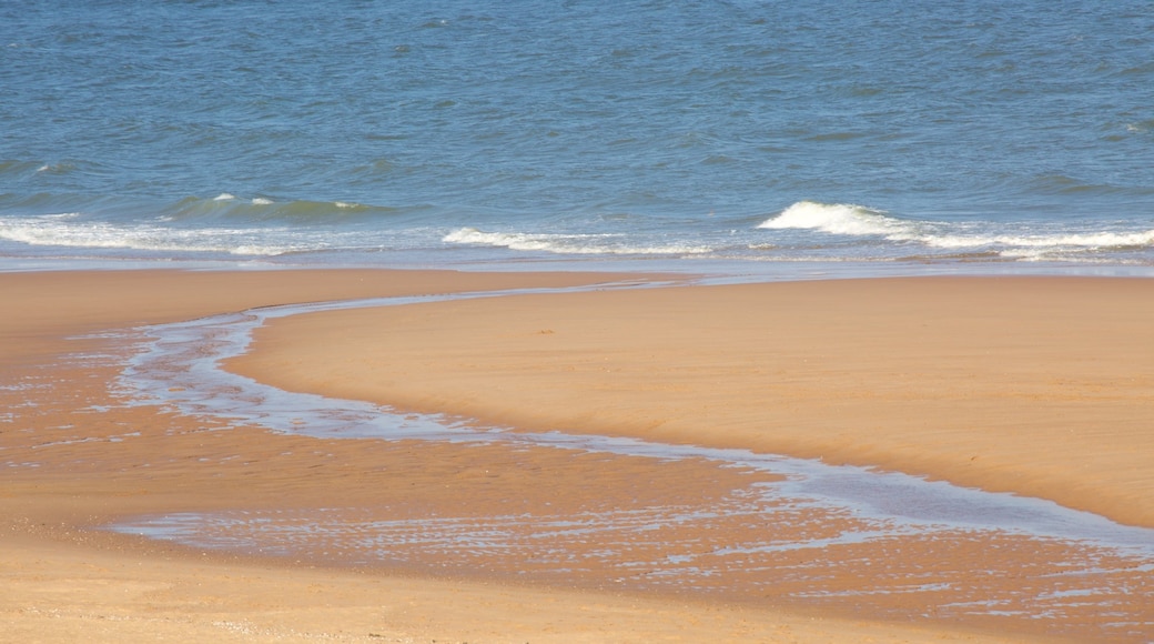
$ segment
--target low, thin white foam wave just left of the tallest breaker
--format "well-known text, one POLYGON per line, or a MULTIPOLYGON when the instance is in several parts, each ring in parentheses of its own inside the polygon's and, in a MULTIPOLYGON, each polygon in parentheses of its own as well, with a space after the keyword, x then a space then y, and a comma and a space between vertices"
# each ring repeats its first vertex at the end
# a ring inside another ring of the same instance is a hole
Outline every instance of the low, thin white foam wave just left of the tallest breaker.
POLYGON ((502 233, 463 227, 442 238, 445 244, 539 250, 570 255, 696 255, 713 250, 692 244, 631 244, 613 233, 502 233))

